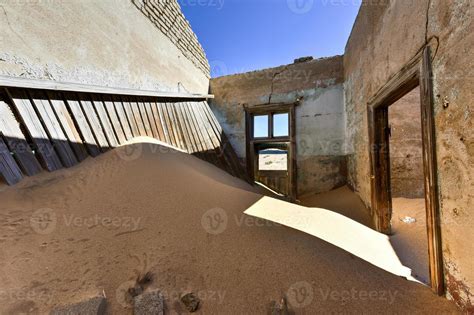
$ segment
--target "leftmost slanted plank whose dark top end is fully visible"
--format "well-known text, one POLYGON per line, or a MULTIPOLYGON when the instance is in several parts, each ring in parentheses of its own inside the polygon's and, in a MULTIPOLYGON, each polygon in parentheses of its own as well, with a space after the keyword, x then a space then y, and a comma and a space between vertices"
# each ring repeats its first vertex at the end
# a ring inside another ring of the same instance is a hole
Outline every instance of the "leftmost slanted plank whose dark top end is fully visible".
POLYGON ((61 160, 56 154, 29 96, 24 90, 12 90, 11 92, 8 91, 8 95, 12 99, 20 119, 31 138, 40 162, 50 172, 61 169, 63 167, 61 160))

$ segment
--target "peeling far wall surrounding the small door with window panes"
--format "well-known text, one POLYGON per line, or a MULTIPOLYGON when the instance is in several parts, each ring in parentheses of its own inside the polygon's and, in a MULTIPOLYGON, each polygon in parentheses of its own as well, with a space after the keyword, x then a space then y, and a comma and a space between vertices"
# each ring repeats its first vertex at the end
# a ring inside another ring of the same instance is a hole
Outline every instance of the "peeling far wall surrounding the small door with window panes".
POLYGON ((210 106, 238 156, 245 159, 243 104, 296 108, 298 194, 345 184, 342 57, 295 63, 211 80, 210 106))

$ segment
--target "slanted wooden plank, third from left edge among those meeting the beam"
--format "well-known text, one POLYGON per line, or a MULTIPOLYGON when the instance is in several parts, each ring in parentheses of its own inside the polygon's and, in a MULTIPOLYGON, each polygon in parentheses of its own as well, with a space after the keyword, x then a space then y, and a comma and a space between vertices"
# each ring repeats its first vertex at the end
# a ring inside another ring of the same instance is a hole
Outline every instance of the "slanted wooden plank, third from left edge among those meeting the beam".
POLYGON ((44 123, 46 133, 58 153, 61 163, 65 167, 76 165, 78 163, 77 158, 69 145, 69 141, 61 128, 61 124, 59 123, 46 94, 42 91, 32 91, 30 92, 30 96, 32 97, 32 101, 44 123))

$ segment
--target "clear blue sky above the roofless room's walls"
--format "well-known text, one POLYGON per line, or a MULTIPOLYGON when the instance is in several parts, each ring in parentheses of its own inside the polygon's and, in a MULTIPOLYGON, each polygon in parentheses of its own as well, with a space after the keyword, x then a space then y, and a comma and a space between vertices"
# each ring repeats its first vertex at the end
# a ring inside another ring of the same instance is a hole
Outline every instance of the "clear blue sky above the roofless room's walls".
POLYGON ((212 77, 341 55, 362 0, 178 0, 212 77))

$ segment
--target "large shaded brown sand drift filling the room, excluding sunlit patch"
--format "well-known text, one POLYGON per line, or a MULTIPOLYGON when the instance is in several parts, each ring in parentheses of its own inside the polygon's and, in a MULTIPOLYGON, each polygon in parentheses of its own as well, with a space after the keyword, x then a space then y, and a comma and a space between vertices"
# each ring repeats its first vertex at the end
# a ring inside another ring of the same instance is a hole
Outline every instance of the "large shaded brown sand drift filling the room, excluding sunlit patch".
POLYGON ((131 148, 141 154, 122 147, 3 188, 1 314, 42 314, 102 291, 109 313, 131 313, 123 290, 146 271, 171 314, 185 313, 185 291, 201 297, 201 314, 265 314, 283 294, 296 314, 457 312, 427 287, 244 215, 262 196, 214 166, 131 148))

